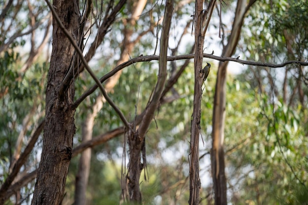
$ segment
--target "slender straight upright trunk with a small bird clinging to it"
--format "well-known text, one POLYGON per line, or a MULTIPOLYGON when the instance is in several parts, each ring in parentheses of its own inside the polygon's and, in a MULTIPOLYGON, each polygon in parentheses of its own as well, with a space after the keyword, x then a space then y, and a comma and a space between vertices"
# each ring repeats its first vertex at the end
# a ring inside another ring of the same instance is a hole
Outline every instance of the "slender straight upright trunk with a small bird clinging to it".
POLYGON ((199 204, 199 191, 201 187, 199 177, 199 135, 201 118, 201 86, 204 73, 202 72, 203 43, 202 35, 203 1, 196 0, 195 4, 195 58, 194 58, 194 99, 191 120, 190 151, 189 151, 189 205, 199 204))

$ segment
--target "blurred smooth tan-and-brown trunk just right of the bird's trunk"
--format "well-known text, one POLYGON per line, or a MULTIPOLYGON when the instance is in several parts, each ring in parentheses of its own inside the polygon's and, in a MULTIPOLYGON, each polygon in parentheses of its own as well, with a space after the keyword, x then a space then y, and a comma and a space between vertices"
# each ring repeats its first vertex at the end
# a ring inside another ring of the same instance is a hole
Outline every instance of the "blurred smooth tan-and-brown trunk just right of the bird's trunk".
MULTIPOLYGON (((238 0, 231 35, 228 39, 228 44, 222 51, 223 57, 231 57, 234 54, 236 45, 239 41, 245 14, 254 2, 255 0, 250 0, 247 5, 247 0, 238 0)), ((227 205, 227 185, 224 173, 223 150, 227 65, 228 61, 219 62, 213 109, 213 145, 211 162, 216 205, 227 205)))

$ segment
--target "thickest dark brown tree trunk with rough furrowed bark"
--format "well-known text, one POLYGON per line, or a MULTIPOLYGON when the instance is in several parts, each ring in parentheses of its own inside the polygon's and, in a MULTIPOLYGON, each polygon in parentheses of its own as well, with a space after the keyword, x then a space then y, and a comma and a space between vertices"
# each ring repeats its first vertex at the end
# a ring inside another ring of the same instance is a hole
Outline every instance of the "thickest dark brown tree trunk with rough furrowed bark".
MULTIPOLYGON (((64 27, 77 36, 79 6, 76 0, 54 0, 64 27)), ((32 205, 61 205, 75 133, 74 83, 60 94, 59 87, 70 69, 74 47, 53 19, 53 49, 46 89, 46 117, 41 160, 32 205)), ((73 63, 72 63, 73 65, 73 63)))

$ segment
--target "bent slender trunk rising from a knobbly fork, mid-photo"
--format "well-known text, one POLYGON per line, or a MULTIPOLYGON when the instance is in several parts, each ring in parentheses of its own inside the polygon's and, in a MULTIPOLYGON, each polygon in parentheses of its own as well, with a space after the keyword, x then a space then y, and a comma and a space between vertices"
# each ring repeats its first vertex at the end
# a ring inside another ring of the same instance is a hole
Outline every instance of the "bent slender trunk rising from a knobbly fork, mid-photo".
POLYGON ((130 152, 127 176, 129 200, 137 204, 141 204, 142 202, 139 179, 141 171, 145 166, 145 162, 143 162, 143 164, 141 163, 141 150, 145 146, 145 134, 153 119, 154 112, 158 106, 159 99, 161 97, 167 78, 167 49, 172 11, 173 0, 167 0, 160 38, 159 71, 157 83, 153 92, 152 99, 147 106, 145 115, 141 120, 137 132, 129 130, 128 133, 128 146, 130 152))

